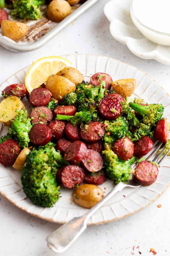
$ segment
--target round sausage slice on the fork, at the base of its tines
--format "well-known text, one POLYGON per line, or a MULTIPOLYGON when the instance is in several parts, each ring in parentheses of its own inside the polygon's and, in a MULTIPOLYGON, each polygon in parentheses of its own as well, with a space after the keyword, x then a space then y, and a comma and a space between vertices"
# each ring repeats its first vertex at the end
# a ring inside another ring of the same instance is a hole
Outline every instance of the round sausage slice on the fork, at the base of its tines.
POLYGON ((137 164, 135 176, 143 186, 151 185, 158 177, 158 167, 149 161, 142 161, 137 164))

